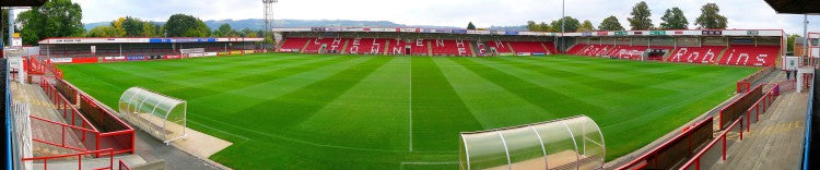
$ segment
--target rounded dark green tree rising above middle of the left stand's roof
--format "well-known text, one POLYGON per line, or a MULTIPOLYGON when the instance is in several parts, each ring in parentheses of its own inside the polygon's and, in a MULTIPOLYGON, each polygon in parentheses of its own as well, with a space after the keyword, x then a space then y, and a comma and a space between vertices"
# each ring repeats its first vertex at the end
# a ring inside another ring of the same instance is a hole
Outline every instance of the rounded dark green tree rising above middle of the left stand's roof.
POLYGON ((211 33, 202 20, 186 14, 168 17, 164 29, 169 37, 207 37, 211 33))

